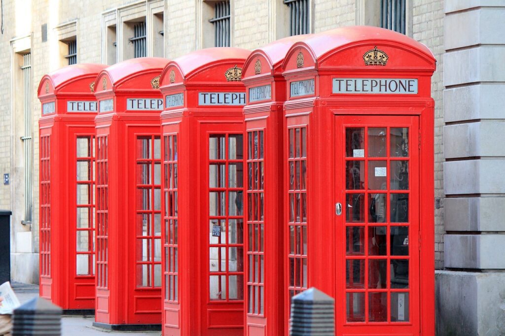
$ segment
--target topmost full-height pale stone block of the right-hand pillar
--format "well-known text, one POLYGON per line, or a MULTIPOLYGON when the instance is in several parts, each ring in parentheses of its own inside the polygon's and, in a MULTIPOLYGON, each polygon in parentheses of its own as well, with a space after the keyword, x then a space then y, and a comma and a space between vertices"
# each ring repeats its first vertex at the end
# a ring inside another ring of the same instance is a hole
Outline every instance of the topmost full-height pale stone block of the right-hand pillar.
POLYGON ((445 16, 445 50, 477 44, 505 44, 505 34, 496 30, 504 16, 505 7, 479 7, 445 16))

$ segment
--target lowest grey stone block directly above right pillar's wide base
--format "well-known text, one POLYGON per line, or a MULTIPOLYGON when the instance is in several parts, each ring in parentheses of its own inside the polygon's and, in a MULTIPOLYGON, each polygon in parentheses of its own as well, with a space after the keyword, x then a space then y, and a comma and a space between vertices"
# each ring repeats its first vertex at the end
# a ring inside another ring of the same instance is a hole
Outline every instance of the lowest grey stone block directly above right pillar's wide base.
MULTIPOLYGON (((444 265, 505 271, 505 235, 445 235, 444 265)), ((505 290, 505 288, 504 288, 505 290)))

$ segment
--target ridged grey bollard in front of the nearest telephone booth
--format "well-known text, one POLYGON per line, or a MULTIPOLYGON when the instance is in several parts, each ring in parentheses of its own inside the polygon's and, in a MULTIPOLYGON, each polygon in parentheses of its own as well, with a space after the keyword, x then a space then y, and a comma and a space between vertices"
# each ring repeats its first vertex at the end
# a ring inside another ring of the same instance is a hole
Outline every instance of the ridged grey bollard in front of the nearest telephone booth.
POLYGON ((291 298, 290 336, 334 336, 335 300, 317 288, 291 298))

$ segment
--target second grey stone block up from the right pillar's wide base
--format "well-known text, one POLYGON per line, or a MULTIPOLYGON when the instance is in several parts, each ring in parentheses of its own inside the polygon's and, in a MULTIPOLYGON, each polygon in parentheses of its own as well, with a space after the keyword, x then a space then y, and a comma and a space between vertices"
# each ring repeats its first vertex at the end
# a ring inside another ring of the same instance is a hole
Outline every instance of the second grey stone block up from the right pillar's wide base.
POLYGON ((444 199, 446 231, 504 231, 505 197, 444 199))

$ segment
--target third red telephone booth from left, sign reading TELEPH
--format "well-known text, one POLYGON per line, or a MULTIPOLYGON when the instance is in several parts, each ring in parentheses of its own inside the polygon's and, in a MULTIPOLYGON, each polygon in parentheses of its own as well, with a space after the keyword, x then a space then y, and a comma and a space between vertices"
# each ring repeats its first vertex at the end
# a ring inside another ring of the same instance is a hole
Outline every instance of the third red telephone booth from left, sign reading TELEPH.
POLYGON ((249 51, 198 50, 161 76, 164 335, 242 335, 249 51))

